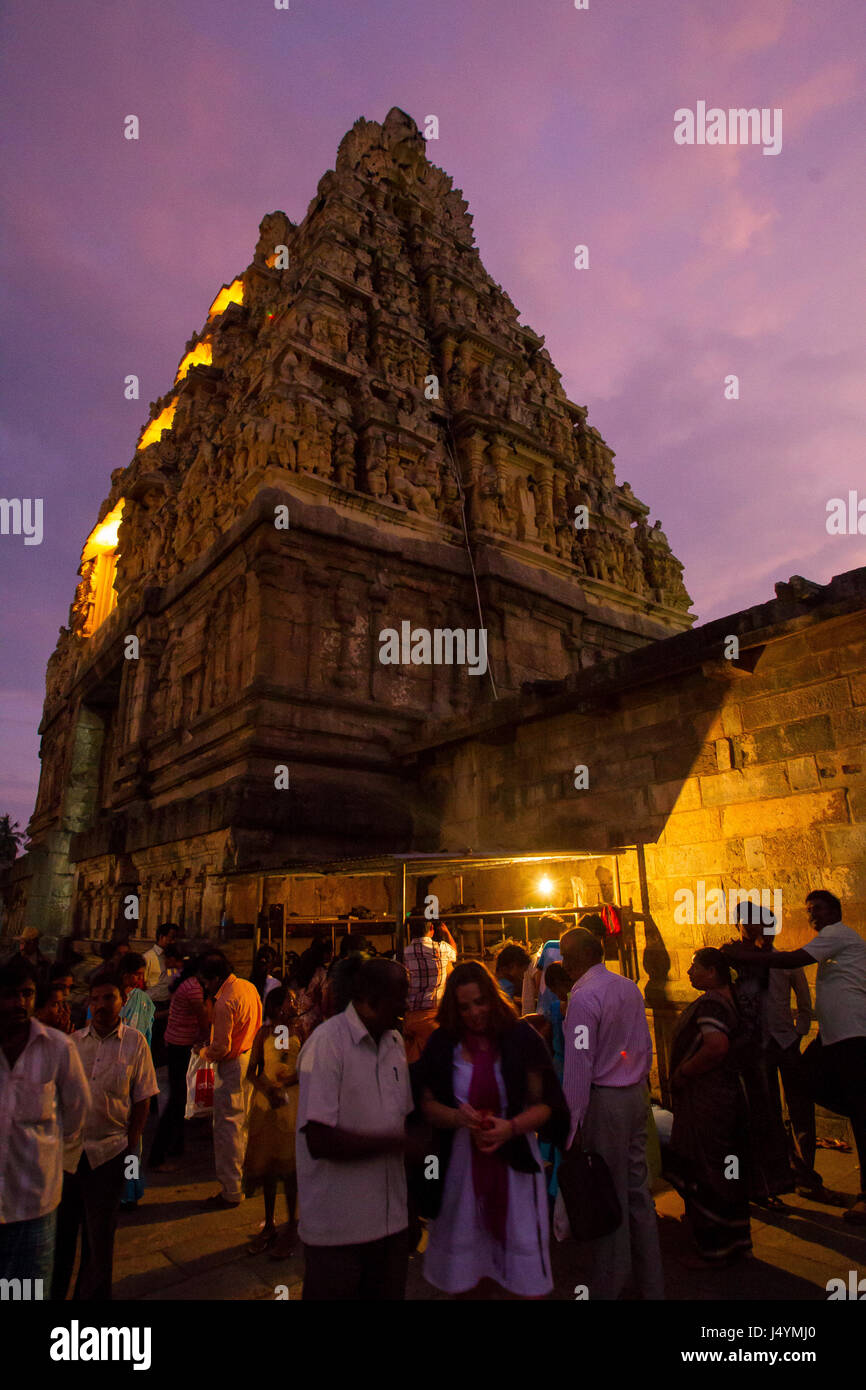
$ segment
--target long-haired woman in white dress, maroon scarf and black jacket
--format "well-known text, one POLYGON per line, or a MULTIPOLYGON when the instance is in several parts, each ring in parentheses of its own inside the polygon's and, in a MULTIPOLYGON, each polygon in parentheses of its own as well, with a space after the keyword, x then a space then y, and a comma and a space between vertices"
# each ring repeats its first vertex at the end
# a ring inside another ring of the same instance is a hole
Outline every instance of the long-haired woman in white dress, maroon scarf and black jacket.
POLYGON ((539 1298, 553 1287, 537 1131, 569 1133, 550 1054, 478 960, 448 979, 413 1086, 438 1141, 438 1177, 420 1186, 432 1220, 424 1277, 460 1294, 482 1280, 539 1298))

